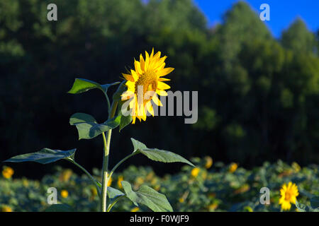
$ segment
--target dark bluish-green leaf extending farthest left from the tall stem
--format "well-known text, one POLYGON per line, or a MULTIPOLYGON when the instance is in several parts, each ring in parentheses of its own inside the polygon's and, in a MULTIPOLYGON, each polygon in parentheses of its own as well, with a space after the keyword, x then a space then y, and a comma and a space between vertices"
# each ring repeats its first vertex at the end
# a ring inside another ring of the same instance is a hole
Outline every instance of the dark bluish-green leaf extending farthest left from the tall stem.
POLYGON ((4 162, 38 162, 41 164, 47 164, 55 162, 57 160, 66 159, 74 156, 75 150, 52 150, 49 148, 43 148, 36 153, 28 153, 24 155, 16 155, 4 162))

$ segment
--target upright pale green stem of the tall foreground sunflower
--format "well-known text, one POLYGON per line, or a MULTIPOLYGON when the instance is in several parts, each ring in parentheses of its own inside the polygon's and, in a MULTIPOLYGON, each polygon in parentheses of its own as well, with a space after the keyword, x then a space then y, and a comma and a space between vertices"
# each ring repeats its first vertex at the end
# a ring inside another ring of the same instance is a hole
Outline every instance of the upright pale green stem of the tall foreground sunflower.
MULTIPOLYGON (((116 113, 116 107, 118 107, 118 102, 113 102, 111 106, 111 113, 108 114, 108 119, 111 119, 114 117, 116 113)), ((107 210, 107 193, 108 193, 108 155, 110 153, 110 143, 111 143, 111 134, 112 130, 110 129, 106 136, 105 133, 102 133, 103 136, 103 146, 104 146, 104 155, 103 155, 103 169, 102 169, 102 200, 101 200, 101 211, 106 212, 107 210)))

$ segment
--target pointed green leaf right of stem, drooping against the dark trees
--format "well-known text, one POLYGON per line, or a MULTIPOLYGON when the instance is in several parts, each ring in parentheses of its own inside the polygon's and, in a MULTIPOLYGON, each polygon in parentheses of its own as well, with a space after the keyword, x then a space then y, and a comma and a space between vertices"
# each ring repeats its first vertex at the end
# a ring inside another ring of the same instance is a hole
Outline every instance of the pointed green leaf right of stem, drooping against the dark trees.
POLYGON ((134 138, 130 138, 132 140, 134 146, 134 152, 138 151, 138 153, 142 153, 147 156, 150 160, 158 161, 158 162, 184 162, 186 164, 195 167, 193 163, 186 160, 181 155, 177 155, 168 150, 159 150, 157 148, 147 148, 144 143, 140 141, 136 141, 134 138))

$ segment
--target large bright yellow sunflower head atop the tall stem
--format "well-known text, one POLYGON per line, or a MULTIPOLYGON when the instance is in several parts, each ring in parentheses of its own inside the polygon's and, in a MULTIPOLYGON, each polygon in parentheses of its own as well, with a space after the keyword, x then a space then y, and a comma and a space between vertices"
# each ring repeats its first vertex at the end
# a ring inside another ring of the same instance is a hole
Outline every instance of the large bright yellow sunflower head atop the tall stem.
POLYGON ((167 96, 165 90, 170 86, 164 81, 169 81, 168 78, 162 78, 171 73, 173 68, 164 68, 165 59, 167 56, 161 57, 161 52, 148 54, 145 51, 145 59, 140 54, 140 61, 134 61, 135 70, 131 69, 130 74, 122 73, 127 81, 125 85, 128 87, 121 96, 122 100, 129 100, 129 109, 132 111, 132 124, 135 124, 135 119, 140 121, 146 120, 147 112, 154 117, 154 109, 151 100, 157 106, 162 106, 157 95, 167 96))

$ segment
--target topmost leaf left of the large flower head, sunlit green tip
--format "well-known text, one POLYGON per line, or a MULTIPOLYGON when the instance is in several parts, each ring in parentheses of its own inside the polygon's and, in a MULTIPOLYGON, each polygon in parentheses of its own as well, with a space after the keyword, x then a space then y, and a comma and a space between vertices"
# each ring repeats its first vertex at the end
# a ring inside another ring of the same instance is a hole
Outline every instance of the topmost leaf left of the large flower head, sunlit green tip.
POLYGON ((95 88, 98 88, 99 90, 102 90, 104 93, 106 93, 108 88, 111 85, 118 85, 118 84, 119 82, 100 85, 99 83, 96 83, 94 81, 90 81, 84 78, 75 78, 75 81, 72 85, 71 90, 69 90, 69 92, 67 93, 72 93, 72 94, 84 93, 88 90, 92 90, 95 88))

